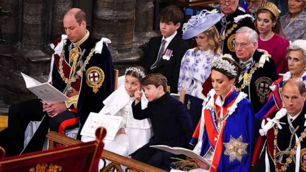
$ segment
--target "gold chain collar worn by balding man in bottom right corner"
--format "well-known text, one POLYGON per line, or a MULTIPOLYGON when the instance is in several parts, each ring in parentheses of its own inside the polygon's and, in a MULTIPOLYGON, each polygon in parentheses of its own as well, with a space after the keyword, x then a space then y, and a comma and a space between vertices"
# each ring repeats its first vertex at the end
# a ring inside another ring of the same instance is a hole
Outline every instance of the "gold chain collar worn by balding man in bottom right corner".
MULTIPOLYGON (((277 123, 279 123, 279 120, 276 121, 277 123)), ((290 127, 290 126, 289 126, 290 127)), ((295 130, 291 131, 291 138, 290 138, 290 143, 289 143, 289 147, 285 150, 285 151, 281 151, 276 153, 276 146, 277 146, 277 134, 278 134, 278 126, 275 125, 275 130, 274 130, 274 149, 273 149, 273 160, 274 160, 274 166, 275 166, 275 171, 279 172, 279 171, 286 171, 288 165, 292 162, 292 158, 294 158, 294 155, 296 153, 296 148, 298 146, 298 144, 303 141, 303 139, 306 137, 306 128, 304 129, 304 131, 300 134, 300 137, 298 137, 298 141, 295 143, 293 148, 291 147, 291 142, 292 142, 292 138, 296 132, 296 130, 298 129, 298 126, 296 127, 295 130), (281 167, 281 169, 277 168, 277 161, 276 161, 276 156, 280 156, 283 154, 288 154, 289 157, 286 158, 286 163, 281 167)))

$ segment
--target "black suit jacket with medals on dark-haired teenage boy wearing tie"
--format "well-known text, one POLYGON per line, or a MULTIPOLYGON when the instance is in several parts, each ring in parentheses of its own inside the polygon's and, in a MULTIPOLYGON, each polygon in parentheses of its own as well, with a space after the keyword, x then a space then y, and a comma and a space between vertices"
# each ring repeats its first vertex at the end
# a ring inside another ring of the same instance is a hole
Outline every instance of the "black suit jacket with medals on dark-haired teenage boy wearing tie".
POLYGON ((167 49, 173 51, 170 60, 162 58, 158 66, 151 70, 151 66, 157 60, 162 39, 163 36, 159 36, 149 40, 140 65, 144 67, 147 73, 161 73, 166 76, 171 93, 178 93, 181 61, 185 52, 189 49, 189 45, 186 44, 179 33, 177 33, 167 47, 167 49))

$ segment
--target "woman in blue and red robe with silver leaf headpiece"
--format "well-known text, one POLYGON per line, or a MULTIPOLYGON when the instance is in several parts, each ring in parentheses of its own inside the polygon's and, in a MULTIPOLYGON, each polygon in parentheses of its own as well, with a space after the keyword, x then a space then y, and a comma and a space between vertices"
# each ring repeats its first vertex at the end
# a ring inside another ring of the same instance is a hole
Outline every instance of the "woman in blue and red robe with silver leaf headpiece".
POLYGON ((247 95, 235 90, 240 72, 239 64, 232 58, 217 57, 212 62, 213 89, 204 102, 190 144, 195 146, 195 153, 210 161, 215 168, 187 157, 188 161, 194 161, 200 167, 192 171, 248 171, 250 167, 256 119, 247 95))

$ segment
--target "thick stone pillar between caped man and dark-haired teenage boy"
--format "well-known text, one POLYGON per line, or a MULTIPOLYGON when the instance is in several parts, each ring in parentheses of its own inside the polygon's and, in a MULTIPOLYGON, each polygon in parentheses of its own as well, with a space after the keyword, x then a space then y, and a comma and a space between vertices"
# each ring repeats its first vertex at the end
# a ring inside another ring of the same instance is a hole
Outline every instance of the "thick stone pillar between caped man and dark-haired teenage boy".
POLYGON ((135 0, 96 0, 94 3, 93 35, 106 37, 110 49, 119 54, 133 47, 135 0))

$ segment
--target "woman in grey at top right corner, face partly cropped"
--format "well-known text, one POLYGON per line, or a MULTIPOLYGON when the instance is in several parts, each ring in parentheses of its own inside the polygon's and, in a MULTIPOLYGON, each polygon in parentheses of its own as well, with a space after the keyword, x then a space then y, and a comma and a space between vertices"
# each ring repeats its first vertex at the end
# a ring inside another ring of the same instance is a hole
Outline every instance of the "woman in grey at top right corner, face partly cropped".
POLYGON ((306 39, 306 0, 288 0, 289 12, 280 17, 281 27, 289 41, 306 39))

